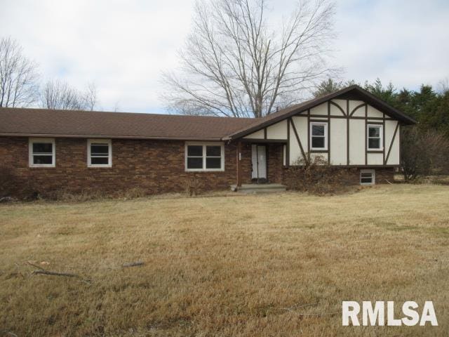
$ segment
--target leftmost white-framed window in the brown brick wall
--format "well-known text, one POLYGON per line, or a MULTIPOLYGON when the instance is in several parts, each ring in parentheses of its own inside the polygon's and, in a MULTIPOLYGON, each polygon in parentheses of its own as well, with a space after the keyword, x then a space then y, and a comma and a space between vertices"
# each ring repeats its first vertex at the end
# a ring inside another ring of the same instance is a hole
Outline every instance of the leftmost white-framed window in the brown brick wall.
POLYGON ((29 138, 29 167, 55 167, 55 138, 29 138))

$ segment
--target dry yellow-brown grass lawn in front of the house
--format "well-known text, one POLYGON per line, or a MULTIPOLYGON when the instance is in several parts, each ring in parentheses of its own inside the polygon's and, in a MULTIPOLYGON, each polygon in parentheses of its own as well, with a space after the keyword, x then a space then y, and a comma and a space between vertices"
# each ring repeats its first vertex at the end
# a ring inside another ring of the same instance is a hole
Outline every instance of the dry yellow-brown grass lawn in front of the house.
POLYGON ((0 234, 0 335, 448 336, 448 186, 11 204, 0 234), (344 327, 342 300, 439 326, 344 327))

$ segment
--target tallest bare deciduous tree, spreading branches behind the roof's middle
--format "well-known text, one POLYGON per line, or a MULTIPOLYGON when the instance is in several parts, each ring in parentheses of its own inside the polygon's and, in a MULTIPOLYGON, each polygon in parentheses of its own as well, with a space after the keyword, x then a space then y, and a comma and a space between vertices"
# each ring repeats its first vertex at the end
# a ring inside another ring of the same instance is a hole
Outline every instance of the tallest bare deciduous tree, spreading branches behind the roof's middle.
POLYGON ((333 3, 300 0, 279 25, 267 22, 268 12, 265 0, 198 1, 180 72, 163 74, 168 107, 263 117, 300 102, 333 75, 324 59, 333 37, 333 3))

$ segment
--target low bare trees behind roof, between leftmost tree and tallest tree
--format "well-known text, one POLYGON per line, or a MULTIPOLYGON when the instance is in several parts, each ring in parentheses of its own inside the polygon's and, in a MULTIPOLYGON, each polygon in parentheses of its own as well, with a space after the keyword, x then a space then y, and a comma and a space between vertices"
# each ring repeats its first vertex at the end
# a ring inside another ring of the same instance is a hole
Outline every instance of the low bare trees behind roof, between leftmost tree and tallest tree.
POLYGON ((85 92, 69 86, 59 79, 47 81, 41 93, 41 107, 53 110, 89 110, 97 104, 97 90, 88 84, 85 92))

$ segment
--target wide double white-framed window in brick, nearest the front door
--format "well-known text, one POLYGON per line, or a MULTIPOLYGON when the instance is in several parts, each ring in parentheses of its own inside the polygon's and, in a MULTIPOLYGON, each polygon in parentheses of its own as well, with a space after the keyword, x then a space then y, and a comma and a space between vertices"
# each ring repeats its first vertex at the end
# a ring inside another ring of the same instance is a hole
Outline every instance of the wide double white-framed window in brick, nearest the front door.
POLYGON ((185 143, 185 171, 225 171, 225 145, 185 143))

